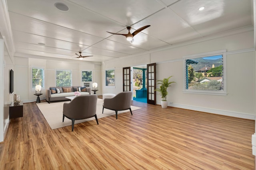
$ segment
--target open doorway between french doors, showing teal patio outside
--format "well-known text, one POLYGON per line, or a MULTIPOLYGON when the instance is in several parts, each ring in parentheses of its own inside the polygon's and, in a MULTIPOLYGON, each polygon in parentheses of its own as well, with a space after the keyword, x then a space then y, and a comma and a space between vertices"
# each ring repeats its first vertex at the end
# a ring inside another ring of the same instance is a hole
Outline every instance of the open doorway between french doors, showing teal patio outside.
POLYGON ((133 100, 147 103, 147 66, 132 67, 133 100))

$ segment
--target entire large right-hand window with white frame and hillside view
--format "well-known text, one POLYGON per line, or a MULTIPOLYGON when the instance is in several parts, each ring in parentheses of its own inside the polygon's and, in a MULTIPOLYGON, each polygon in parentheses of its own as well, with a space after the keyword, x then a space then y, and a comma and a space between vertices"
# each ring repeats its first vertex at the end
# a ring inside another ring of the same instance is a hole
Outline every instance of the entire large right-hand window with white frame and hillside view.
POLYGON ((184 57, 184 92, 226 95, 226 51, 184 57))

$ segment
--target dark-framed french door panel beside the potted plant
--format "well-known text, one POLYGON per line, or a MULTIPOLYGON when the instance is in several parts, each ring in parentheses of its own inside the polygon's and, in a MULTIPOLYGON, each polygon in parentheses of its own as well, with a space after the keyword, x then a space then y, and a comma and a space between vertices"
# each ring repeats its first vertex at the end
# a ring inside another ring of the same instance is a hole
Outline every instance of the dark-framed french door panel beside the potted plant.
POLYGON ((147 102, 148 104, 156 104, 156 63, 147 64, 147 102))

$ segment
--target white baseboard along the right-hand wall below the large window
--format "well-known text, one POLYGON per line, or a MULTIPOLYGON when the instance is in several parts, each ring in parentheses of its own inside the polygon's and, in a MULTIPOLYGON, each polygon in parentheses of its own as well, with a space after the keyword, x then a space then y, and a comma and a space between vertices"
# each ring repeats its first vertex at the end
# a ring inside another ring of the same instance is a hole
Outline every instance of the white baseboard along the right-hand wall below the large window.
MULTIPOLYGON (((161 105, 159 102, 157 102, 157 104, 161 105)), ((255 120, 255 115, 251 115, 248 113, 239 113, 239 112, 234 112, 234 111, 223 111, 223 110, 218 110, 218 109, 188 106, 188 105, 182 105, 182 104, 168 104, 168 106, 178 107, 178 108, 182 108, 182 109, 190 109, 190 110, 195 110, 195 111, 203 111, 203 112, 213 113, 213 114, 218 114, 218 115, 238 117, 238 118, 242 118, 242 119, 255 120)))

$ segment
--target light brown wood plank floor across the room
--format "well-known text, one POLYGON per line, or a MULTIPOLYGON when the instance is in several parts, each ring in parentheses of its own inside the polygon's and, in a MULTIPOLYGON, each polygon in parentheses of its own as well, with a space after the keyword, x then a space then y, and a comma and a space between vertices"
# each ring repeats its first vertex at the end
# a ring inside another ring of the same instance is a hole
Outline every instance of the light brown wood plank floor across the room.
MULTIPOLYGON (((252 170, 253 120, 132 102, 130 112, 50 129, 35 102, 11 119, 1 170, 252 170)), ((62 121, 62 117, 60 117, 62 121)))

